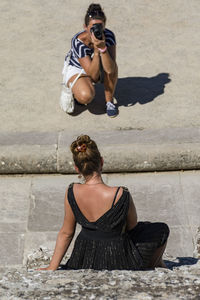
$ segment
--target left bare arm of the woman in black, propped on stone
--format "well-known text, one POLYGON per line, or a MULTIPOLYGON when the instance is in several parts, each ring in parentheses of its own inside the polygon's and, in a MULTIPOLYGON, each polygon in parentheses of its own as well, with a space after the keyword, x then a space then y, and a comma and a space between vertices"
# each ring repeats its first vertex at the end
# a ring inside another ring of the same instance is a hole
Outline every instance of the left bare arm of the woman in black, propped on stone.
POLYGON ((58 267, 59 264, 65 255, 72 238, 74 236, 75 232, 75 227, 76 227, 76 221, 74 214, 72 212, 71 206, 68 202, 67 198, 67 192, 65 194, 65 216, 64 216, 64 222, 63 226, 60 229, 58 236, 57 236, 57 241, 56 241, 56 246, 54 250, 54 254, 52 256, 51 262, 49 264, 49 267, 47 268, 40 268, 38 270, 52 270, 55 271, 58 267))

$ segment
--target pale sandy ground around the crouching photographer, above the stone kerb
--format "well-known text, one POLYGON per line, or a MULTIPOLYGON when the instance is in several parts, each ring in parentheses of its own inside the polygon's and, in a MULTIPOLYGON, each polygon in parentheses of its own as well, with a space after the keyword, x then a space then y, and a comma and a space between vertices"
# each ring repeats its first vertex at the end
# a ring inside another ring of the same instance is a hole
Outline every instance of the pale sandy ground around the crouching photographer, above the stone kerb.
POLYGON ((84 112, 60 110, 61 70, 90 1, 0 3, 0 131, 200 127, 200 2, 101 0, 117 39, 120 114, 102 88, 84 112))

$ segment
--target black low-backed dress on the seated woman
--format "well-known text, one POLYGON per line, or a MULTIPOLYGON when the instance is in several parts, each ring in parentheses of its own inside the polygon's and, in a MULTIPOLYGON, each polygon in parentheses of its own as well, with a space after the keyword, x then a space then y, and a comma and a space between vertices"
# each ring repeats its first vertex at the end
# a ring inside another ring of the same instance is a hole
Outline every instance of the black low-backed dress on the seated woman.
MULTIPOLYGON (((119 188, 118 188, 119 190, 119 188)), ((117 192, 118 192, 117 190, 117 192)), ((117 195, 116 192, 116 195, 117 195)), ((79 209, 74 193, 73 184, 68 189, 68 201, 74 213, 77 223, 82 230, 76 238, 74 249, 67 261, 67 269, 94 269, 94 270, 142 270, 151 259, 154 251, 164 244, 167 237, 148 241, 134 241, 146 223, 139 222, 130 232, 125 231, 126 218, 129 209, 129 191, 123 188, 120 199, 95 222, 89 222, 79 209), (145 243, 148 247, 145 247, 145 243), (141 249, 140 249, 141 245, 141 249)), ((163 223, 148 223, 163 224, 163 223)), ((165 224, 164 224, 165 225, 165 224)), ((146 227, 147 227, 146 226, 146 227)), ((166 225, 167 226, 167 225, 166 225)), ((145 234, 143 233, 145 236, 145 234)), ((149 234, 147 234, 147 237, 149 234)))

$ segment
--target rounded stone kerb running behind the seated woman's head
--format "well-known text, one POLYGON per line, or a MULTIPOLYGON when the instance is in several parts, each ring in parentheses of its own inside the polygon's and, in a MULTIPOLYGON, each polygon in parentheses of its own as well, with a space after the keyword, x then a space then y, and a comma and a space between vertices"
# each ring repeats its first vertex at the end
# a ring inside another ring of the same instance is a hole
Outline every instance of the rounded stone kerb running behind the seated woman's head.
MULTIPOLYGON (((71 142, 79 133, 0 134, 0 174, 75 173, 71 142)), ((200 169, 200 129, 87 132, 104 157, 104 172, 200 169)))

